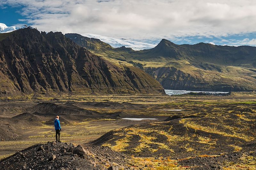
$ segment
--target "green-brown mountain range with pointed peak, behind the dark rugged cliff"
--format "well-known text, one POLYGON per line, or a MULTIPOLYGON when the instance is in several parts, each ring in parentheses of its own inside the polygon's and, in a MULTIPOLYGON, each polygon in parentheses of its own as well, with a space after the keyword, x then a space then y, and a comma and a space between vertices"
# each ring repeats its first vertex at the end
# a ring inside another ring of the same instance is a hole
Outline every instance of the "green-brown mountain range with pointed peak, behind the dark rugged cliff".
POLYGON ((224 92, 256 89, 256 47, 177 45, 163 39, 152 49, 134 51, 112 48, 99 39, 79 34, 65 36, 109 61, 139 67, 165 89, 224 92))

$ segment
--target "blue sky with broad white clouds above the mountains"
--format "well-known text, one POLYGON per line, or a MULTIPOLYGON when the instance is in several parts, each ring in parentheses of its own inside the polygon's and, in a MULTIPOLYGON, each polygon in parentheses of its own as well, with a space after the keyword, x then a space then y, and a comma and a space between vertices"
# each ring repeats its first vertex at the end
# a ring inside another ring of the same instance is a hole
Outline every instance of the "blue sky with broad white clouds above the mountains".
POLYGON ((157 44, 256 46, 255 0, 1 0, 0 23, 157 44))

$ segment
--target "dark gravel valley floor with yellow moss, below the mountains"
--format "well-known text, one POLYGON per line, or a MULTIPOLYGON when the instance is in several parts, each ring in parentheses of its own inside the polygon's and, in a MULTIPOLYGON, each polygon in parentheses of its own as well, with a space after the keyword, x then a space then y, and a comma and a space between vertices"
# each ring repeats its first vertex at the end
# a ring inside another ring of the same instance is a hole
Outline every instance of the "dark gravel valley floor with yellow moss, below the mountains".
POLYGON ((0 159, 55 141, 60 115, 62 142, 121 152, 124 169, 256 169, 255 95, 38 97, 0 108, 0 159))

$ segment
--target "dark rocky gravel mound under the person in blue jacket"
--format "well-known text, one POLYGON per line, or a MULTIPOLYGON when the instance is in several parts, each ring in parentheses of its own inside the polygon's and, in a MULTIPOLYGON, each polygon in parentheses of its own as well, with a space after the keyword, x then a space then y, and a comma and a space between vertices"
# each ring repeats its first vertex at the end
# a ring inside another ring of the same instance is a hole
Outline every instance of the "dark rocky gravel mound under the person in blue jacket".
MULTIPOLYGON (((2 170, 20 169, 54 169, 54 170, 105 170, 106 163, 118 165, 121 169, 127 169, 127 159, 122 153, 111 151, 106 147, 87 147, 78 145, 79 157, 74 144, 48 142, 47 144, 36 144, 12 156, 0 160, 2 170), (70 152, 63 152, 64 150, 70 152), (74 153, 74 154, 73 154, 74 153), (122 158, 122 159, 121 159, 122 158)), ((107 165, 108 165, 107 164, 107 165)))

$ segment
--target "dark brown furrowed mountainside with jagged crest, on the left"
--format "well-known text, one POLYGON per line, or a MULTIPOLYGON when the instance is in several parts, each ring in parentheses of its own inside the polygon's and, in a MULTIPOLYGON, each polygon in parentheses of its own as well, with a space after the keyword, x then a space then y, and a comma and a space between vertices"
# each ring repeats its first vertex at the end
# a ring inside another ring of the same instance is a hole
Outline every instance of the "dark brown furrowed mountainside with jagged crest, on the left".
POLYGON ((121 67, 77 46, 62 33, 26 28, 0 37, 1 94, 163 93, 139 69, 121 67))

